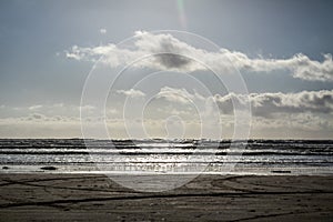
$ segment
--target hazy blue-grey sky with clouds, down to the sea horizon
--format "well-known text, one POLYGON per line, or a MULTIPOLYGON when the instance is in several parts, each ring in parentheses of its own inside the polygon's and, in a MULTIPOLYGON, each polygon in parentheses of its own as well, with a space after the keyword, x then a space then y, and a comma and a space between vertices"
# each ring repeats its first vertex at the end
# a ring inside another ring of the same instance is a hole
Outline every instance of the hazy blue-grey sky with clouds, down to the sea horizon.
POLYGON ((332 10, 3 0, 0 138, 332 139, 332 10))

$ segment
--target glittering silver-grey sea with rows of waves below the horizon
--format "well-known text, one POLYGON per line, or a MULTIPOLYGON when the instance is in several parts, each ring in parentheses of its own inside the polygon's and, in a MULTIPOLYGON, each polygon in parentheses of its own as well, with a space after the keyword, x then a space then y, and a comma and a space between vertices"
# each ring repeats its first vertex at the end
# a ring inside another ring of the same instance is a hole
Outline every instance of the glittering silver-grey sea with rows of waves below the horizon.
POLYGON ((1 139, 1 173, 333 173, 333 140, 1 139))

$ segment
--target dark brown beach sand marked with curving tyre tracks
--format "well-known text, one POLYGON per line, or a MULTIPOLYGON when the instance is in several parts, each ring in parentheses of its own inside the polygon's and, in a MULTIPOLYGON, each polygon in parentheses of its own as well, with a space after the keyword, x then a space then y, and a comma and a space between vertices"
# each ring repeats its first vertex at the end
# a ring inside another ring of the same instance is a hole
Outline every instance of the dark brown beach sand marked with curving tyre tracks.
POLYGON ((333 176, 200 175, 149 193, 100 174, 1 173, 0 186, 0 221, 333 221, 333 176))

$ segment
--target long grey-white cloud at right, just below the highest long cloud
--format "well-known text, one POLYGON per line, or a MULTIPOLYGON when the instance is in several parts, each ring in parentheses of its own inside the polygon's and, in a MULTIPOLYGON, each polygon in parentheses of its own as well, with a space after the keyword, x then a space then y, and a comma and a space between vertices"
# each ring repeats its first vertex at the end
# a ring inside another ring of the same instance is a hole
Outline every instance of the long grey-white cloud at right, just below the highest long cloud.
POLYGON ((232 114, 234 107, 245 109, 250 102, 252 114, 272 117, 275 113, 333 113, 333 90, 301 91, 296 93, 250 93, 225 95, 215 94, 203 97, 196 92, 190 93, 185 89, 164 87, 157 94, 158 99, 181 104, 195 103, 205 105, 215 102, 224 114, 232 114))

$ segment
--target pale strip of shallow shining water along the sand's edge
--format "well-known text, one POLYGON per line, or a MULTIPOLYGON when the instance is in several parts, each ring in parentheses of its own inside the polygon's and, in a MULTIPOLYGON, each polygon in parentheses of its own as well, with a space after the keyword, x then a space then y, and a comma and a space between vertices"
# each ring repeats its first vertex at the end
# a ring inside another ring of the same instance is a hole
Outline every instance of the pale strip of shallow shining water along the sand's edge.
POLYGON ((101 167, 99 165, 64 165, 64 164, 3 164, 0 165, 0 174, 151 174, 151 175, 167 175, 167 174, 183 174, 183 175, 311 175, 311 176, 333 176, 331 167, 235 167, 234 169, 225 169, 221 165, 221 169, 210 169, 206 167, 205 171, 164 171, 164 170, 109 170, 112 165, 101 167), (228 170, 228 171, 226 171, 228 170))

